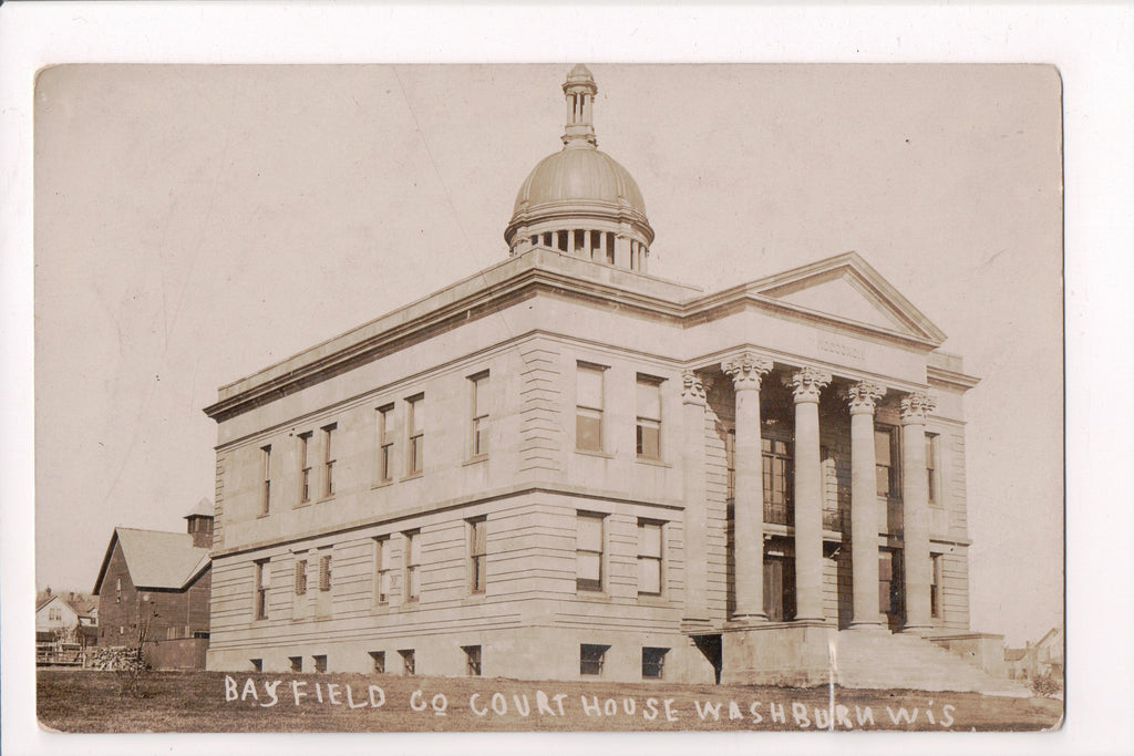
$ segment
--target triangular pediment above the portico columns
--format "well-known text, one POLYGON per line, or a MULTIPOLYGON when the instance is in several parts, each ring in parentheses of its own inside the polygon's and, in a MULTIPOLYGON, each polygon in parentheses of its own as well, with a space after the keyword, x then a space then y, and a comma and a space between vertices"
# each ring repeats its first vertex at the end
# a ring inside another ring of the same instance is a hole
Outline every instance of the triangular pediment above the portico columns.
POLYGON ((754 281, 750 291, 837 320, 924 339, 946 335, 856 253, 754 281))

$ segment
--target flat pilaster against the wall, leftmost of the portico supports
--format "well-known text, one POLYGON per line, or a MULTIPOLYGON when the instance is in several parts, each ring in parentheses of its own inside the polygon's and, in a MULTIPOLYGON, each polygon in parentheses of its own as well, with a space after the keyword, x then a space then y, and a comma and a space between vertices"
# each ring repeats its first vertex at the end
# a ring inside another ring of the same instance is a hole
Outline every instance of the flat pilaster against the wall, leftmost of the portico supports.
POLYGON ((685 618, 709 621, 709 530, 705 510, 705 390, 693 372, 682 374, 682 479, 685 500, 685 618))

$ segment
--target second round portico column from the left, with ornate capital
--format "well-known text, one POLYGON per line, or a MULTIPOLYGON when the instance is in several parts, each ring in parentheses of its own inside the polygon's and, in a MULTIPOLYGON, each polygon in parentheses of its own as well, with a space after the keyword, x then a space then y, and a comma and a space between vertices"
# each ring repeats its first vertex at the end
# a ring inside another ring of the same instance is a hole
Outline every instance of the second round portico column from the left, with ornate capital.
POLYGON ((804 367, 795 392, 795 619, 823 619, 823 479, 819 458, 819 392, 831 374, 804 367))

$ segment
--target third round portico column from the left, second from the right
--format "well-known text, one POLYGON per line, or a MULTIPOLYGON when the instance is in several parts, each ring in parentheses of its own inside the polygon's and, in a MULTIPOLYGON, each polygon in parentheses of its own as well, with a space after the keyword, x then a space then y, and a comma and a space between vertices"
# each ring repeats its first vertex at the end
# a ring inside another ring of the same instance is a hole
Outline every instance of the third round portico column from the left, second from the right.
POLYGON ((847 390, 850 405, 850 575, 854 628, 882 626, 878 601, 878 481, 874 459, 874 406, 886 394, 862 381, 847 390))

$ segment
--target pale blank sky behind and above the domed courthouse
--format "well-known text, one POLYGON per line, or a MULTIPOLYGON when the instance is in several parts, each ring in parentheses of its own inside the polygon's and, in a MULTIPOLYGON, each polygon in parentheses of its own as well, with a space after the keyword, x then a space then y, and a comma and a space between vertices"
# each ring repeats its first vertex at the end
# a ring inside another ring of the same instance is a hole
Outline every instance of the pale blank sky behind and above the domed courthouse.
MULTIPOLYGON (((972 627, 1061 623, 1056 70, 585 62, 652 273, 714 290, 854 249, 949 335, 981 379, 972 627)), ((44 71, 37 586, 90 591, 116 525, 211 500, 220 384, 505 258, 569 67, 44 71)))

